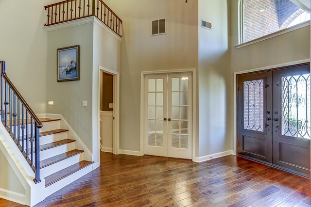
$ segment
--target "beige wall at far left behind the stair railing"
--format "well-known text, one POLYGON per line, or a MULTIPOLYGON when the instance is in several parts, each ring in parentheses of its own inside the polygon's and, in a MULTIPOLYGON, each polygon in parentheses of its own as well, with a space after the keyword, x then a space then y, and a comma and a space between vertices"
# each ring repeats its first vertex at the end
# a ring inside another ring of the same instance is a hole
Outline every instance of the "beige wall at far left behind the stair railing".
POLYGON ((0 0, 0 61, 35 113, 46 110, 47 32, 43 6, 56 0, 0 0))

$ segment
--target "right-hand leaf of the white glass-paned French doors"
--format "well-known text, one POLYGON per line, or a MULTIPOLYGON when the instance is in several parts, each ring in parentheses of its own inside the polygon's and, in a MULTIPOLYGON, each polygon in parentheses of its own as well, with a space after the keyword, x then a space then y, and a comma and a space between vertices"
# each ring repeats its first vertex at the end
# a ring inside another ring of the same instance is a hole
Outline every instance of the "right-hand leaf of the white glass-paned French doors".
POLYGON ((168 157, 192 158, 191 74, 168 75, 168 157))

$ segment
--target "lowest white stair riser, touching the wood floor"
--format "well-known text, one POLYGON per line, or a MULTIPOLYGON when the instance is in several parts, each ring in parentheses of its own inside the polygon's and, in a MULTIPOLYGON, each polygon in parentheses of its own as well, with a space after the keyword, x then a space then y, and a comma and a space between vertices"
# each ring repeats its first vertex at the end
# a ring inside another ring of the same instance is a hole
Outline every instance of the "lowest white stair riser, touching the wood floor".
POLYGON ((91 172, 93 170, 92 168, 92 164, 88 165, 87 167, 61 179, 60 181, 46 187, 46 194, 45 196, 49 196, 51 195, 53 192, 56 192, 62 188, 64 188, 65 186, 69 185, 70 183, 72 183, 73 181, 79 179, 80 177, 86 175, 87 173, 91 172))

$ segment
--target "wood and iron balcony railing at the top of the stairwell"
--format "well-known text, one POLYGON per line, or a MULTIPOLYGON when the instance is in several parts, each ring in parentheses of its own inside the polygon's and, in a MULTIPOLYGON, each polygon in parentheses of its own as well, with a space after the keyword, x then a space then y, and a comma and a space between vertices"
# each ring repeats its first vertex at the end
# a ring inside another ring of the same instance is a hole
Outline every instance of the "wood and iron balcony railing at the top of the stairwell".
POLYGON ((64 0, 45 6, 47 23, 45 26, 96 16, 113 32, 121 37, 122 20, 104 3, 103 0, 64 0))

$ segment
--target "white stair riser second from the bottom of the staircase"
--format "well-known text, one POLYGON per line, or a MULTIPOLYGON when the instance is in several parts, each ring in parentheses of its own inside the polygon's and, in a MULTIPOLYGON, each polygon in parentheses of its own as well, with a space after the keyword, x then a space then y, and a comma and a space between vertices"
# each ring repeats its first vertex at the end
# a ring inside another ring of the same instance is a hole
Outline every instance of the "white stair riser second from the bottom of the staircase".
POLYGON ((56 162, 50 166, 44 167, 40 169, 41 175, 43 177, 47 177, 49 175, 52 175, 58 171, 61 171, 71 165, 74 165, 84 159, 83 153, 80 153, 78 155, 72 156, 70 158, 64 159, 62 161, 56 162))

